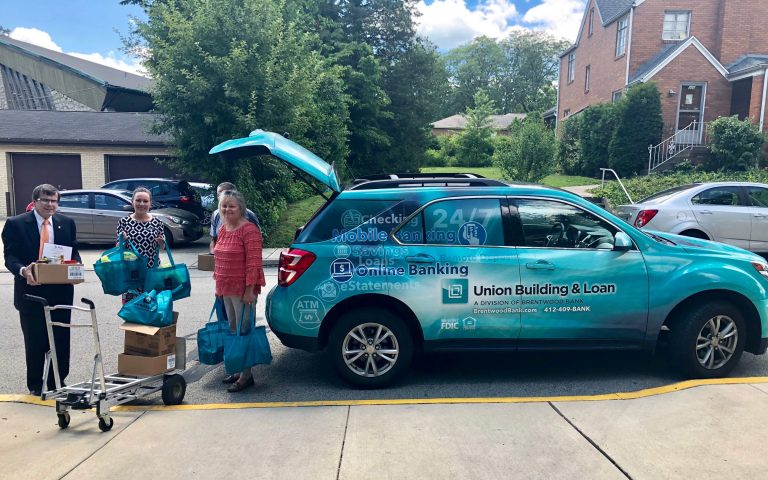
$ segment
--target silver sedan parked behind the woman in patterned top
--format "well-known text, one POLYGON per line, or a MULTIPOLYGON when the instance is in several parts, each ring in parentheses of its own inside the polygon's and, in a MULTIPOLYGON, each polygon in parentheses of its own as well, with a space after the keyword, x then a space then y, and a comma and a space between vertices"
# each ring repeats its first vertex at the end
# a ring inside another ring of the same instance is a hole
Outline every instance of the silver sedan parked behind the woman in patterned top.
MULTIPOLYGON (((165 225, 168 243, 194 242, 203 236, 197 215, 178 208, 152 208, 165 225)), ((59 211, 77 225, 77 241, 112 243, 120 218, 133 211, 131 194, 123 190, 66 190, 61 192, 59 211)))

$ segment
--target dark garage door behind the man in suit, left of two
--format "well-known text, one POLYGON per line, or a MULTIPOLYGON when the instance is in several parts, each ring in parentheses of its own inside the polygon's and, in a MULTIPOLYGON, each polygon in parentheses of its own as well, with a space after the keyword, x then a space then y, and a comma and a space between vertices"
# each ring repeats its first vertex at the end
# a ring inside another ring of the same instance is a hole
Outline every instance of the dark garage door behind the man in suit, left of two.
POLYGON ((12 153, 11 169, 13 203, 8 205, 9 215, 24 213, 32 190, 42 183, 59 190, 83 188, 80 155, 12 153))

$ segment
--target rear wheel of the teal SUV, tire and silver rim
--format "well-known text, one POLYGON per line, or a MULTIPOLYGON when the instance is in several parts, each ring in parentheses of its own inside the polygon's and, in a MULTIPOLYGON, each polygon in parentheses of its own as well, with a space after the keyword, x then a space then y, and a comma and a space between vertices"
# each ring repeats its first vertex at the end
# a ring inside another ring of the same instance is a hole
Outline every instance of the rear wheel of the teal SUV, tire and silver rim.
POLYGON ((364 389, 391 384, 408 369, 413 357, 413 338, 405 322, 376 307, 359 308, 342 316, 331 330, 328 347, 339 376, 364 389))

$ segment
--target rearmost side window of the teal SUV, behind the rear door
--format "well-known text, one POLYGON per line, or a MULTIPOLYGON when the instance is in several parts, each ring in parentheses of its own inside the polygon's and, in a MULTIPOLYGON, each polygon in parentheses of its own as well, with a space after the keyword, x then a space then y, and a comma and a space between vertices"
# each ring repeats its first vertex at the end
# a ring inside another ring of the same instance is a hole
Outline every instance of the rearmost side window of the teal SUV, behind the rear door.
MULTIPOLYGON (((357 199, 331 201, 330 204, 321 207, 319 213, 310 220, 296 238, 296 242, 313 243, 329 240, 378 217, 397 202, 397 200, 357 199)), ((386 230, 395 226, 397 223, 386 225, 386 230)))

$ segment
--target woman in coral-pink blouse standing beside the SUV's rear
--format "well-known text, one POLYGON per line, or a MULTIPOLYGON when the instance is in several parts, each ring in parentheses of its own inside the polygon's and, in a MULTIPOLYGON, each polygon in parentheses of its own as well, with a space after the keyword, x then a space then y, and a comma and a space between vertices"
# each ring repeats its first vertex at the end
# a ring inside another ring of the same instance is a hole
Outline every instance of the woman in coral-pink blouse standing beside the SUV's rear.
MULTIPOLYGON (((249 309, 256 307, 256 297, 261 293, 261 287, 267 284, 262 269, 261 231, 245 218, 246 210, 245 199, 240 192, 227 190, 219 196, 222 225, 213 249, 213 279, 216 281, 216 295, 224 300, 229 330, 233 333, 237 328, 237 319, 243 314, 243 305, 246 306, 244 318, 248 319, 251 314, 249 309)), ((243 331, 247 331, 245 321, 243 331)), ((227 388, 228 392, 239 392, 252 386, 251 369, 228 375, 224 383, 232 384, 227 388)))

